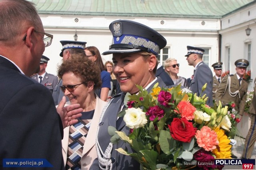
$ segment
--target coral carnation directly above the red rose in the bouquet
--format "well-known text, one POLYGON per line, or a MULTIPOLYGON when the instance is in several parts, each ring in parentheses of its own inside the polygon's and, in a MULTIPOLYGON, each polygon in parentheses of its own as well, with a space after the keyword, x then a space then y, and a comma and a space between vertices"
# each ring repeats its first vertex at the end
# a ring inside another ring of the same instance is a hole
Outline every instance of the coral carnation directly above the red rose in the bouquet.
POLYGON ((189 101, 180 101, 177 108, 178 111, 175 111, 180 113, 181 117, 185 117, 187 120, 194 119, 194 112, 196 111, 196 107, 190 104, 189 101))

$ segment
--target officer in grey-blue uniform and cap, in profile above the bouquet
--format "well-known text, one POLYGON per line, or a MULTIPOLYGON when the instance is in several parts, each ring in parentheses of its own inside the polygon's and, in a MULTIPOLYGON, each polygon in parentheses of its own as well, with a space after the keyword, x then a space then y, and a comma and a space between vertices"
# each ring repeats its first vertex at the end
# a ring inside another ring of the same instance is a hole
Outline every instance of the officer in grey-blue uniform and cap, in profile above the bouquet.
POLYGON ((190 83, 190 90, 196 93, 197 96, 203 96, 206 94, 208 100, 206 104, 213 106, 212 102, 212 71, 208 65, 203 62, 204 49, 187 46, 188 53, 187 57, 188 65, 194 66, 194 76, 190 83), (202 87, 207 83, 207 87, 202 91, 202 87))

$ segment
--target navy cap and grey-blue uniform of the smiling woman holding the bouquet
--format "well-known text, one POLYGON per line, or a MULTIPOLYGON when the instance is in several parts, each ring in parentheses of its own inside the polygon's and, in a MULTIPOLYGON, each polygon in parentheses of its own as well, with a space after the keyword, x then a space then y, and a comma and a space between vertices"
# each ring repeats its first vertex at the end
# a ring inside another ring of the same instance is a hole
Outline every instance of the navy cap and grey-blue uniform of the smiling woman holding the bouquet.
MULTIPOLYGON (((166 46, 166 39, 162 35, 141 23, 116 20, 110 24, 109 28, 113 35, 113 44, 103 55, 147 51, 157 57, 158 51, 166 46)), ((149 92, 156 82, 159 83, 160 87, 166 86, 163 80, 158 77, 146 90, 149 92)), ((121 106, 124 105, 124 96, 123 92, 114 96, 102 111, 96 140, 98 159, 94 160, 91 170, 109 169, 110 167, 112 167, 112 170, 140 169, 140 164, 132 159, 131 156, 120 154, 115 150, 121 147, 128 150, 128 152, 132 152, 130 145, 122 140, 118 141, 117 144, 112 144, 110 142, 111 136, 108 134, 109 126, 113 126, 118 131, 123 131, 126 134, 129 133, 129 128, 125 126, 122 117, 118 119, 117 116, 121 106), (111 146, 112 149, 109 149, 111 146)))

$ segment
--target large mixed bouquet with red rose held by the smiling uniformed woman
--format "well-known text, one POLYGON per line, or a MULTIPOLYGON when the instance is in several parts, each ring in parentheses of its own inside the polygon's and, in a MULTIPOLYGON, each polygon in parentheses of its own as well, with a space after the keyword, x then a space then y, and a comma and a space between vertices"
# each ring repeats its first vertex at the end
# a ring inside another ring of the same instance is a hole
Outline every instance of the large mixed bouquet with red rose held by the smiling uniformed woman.
POLYGON ((137 87, 138 94, 126 94, 127 108, 118 115, 124 116, 130 133, 108 128, 112 143, 121 139, 134 150, 119 148, 118 152, 132 156, 143 170, 223 168, 214 165, 214 159, 231 158, 232 146, 225 134, 231 128, 228 106, 209 107, 205 95, 198 97, 180 85, 160 88, 156 84, 149 94, 137 87))

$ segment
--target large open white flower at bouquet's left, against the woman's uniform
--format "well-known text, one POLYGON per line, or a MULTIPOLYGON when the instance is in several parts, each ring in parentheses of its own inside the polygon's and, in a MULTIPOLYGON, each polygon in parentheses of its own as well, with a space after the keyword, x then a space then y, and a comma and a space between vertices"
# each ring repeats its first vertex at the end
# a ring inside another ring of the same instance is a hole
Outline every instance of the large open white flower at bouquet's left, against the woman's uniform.
POLYGON ((140 108, 128 108, 125 112, 126 114, 124 115, 124 121, 126 126, 131 129, 144 127, 144 125, 148 122, 146 119, 146 113, 140 108))

